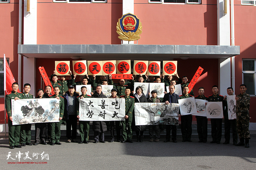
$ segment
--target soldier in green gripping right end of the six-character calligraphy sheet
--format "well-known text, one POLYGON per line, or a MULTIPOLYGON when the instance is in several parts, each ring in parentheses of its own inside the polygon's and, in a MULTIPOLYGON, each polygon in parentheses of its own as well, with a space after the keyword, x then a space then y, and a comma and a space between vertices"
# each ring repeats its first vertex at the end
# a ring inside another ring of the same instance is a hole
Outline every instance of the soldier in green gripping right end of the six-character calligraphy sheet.
POLYGON ((125 89, 125 96, 121 96, 125 99, 125 120, 121 121, 123 128, 123 140, 121 143, 132 143, 132 112, 134 109, 134 97, 130 96, 131 89, 125 89), (126 130, 127 129, 127 130, 126 130))

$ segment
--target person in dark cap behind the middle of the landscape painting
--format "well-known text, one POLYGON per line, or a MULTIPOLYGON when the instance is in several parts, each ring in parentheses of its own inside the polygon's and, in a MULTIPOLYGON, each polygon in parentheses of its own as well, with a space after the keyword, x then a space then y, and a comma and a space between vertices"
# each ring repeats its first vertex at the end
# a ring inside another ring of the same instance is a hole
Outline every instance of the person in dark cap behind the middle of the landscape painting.
MULTIPOLYGON (((156 90, 152 90, 151 95, 152 95, 152 97, 150 97, 148 99, 148 103, 161 103, 161 100, 156 96, 157 95, 156 90)), ((150 137, 149 142, 154 141, 154 131, 155 131, 155 134, 156 134, 155 142, 159 142, 159 139, 160 139, 159 125, 149 125, 148 126, 148 132, 149 132, 149 137, 150 137)))

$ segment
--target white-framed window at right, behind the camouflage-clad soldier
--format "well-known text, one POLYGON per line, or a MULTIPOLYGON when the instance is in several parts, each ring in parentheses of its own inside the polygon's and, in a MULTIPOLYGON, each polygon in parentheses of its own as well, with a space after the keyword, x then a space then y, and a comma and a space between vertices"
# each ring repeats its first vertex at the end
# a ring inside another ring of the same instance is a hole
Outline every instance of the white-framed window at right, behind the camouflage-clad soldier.
POLYGON ((256 59, 243 59, 243 84, 246 85, 246 93, 255 96, 255 69, 256 59))

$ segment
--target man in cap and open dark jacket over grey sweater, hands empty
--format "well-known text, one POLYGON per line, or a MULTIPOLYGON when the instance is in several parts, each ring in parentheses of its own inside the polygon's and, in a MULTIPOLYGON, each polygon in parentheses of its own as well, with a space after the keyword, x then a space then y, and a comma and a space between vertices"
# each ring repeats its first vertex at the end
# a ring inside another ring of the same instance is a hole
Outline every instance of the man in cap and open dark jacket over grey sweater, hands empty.
POLYGON ((68 91, 63 95, 64 97, 64 115, 63 119, 66 120, 66 136, 68 138, 68 143, 77 142, 76 141, 76 127, 77 127, 77 117, 76 117, 76 98, 79 94, 76 93, 73 85, 69 85, 68 91), (72 126, 72 135, 71 135, 72 126))

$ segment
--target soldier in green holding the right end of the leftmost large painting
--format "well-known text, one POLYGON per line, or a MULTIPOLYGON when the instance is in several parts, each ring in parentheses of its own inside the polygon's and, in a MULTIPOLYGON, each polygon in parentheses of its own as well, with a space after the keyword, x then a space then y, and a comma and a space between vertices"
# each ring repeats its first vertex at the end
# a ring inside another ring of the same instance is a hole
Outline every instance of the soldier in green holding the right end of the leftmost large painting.
POLYGON ((59 94, 60 92, 60 88, 59 86, 55 86, 53 88, 53 92, 54 95, 51 95, 50 98, 57 98, 60 100, 60 118, 59 121, 60 122, 51 122, 50 126, 51 126, 51 141, 52 143, 50 143, 50 145, 54 145, 54 144, 61 144, 60 143, 60 125, 62 123, 62 117, 63 117, 63 113, 64 113, 64 98, 59 94))

